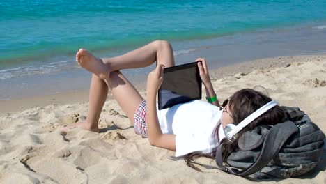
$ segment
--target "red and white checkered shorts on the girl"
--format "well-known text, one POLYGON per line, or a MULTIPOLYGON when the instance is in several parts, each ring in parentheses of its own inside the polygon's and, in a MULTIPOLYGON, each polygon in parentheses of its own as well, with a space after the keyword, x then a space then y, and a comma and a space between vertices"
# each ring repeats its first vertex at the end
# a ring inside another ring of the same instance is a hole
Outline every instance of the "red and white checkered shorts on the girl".
POLYGON ((143 137, 148 137, 147 135, 147 125, 146 125, 146 101, 143 100, 139 104, 137 112, 134 114, 134 132, 143 137))

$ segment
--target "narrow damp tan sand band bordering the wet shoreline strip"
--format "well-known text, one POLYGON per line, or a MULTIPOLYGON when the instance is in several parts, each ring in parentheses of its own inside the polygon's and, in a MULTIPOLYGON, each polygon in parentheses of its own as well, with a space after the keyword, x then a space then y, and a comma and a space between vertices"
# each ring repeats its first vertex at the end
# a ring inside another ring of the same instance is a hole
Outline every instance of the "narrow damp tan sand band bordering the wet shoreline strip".
MULTIPOLYGON (((312 60, 326 59, 326 54, 323 55, 300 55, 300 56, 277 56, 265 59, 256 59, 254 61, 244 61, 235 63, 230 66, 223 66, 210 70, 212 82, 224 77, 233 75, 247 75, 254 70, 271 70, 278 67, 288 67, 293 63, 307 62, 312 60)), ((135 88, 141 93, 146 91, 146 82, 133 83, 135 88)), ((263 86, 263 84, 261 84, 263 86)), ((254 86, 252 86, 254 88, 254 86)), ((215 90, 216 91, 216 90, 215 90)), ((204 93, 204 91, 203 91, 204 93)), ((107 100, 112 100, 113 96, 110 91, 107 95, 107 100)), ((15 98, 10 100, 0 101, 0 116, 10 115, 17 112, 22 112, 26 109, 35 107, 45 107, 47 105, 66 105, 71 103, 88 102, 88 90, 68 91, 50 95, 37 95, 24 98, 15 98)))

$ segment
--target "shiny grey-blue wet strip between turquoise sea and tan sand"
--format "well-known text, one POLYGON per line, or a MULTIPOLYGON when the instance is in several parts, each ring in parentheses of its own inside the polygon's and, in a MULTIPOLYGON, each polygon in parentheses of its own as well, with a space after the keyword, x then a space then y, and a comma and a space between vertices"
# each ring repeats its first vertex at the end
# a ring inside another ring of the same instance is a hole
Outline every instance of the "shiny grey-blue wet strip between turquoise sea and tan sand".
MULTIPOLYGON (((235 33, 217 38, 176 41, 171 42, 171 45, 176 52, 177 64, 190 63, 198 57, 205 57, 210 68, 275 56, 326 54, 326 45, 323 41, 326 40, 326 28, 323 26, 317 28, 317 25, 321 23, 235 33)), ((136 46, 131 49, 135 48, 136 46)), ((122 54, 122 51, 119 52, 122 54)), ((104 51, 92 53, 99 57, 111 57, 118 54, 113 52, 104 54, 104 51)), ((27 73, 24 77, 1 79, 0 104, 4 99, 88 90, 91 74, 78 68, 75 61, 65 63, 63 66, 65 69, 59 72, 44 75, 27 75, 27 73)), ((148 72, 153 68, 154 65, 136 70, 123 70, 123 74, 131 79, 132 83, 138 83, 146 79, 148 72)), ((40 71, 46 72, 47 70, 40 71)), ((5 74, 5 72, 1 73, 1 75, 5 74)))

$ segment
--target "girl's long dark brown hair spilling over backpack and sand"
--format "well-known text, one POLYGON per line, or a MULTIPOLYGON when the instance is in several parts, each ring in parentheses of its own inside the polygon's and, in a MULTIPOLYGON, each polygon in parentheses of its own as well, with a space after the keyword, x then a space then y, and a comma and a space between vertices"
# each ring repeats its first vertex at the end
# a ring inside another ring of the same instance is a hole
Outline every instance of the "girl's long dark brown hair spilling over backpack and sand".
MULTIPOLYGON (((247 118, 247 116, 271 100, 272 99, 267 95, 254 91, 253 89, 241 89, 240 91, 235 92, 228 101, 229 109, 231 109, 232 112, 233 123, 238 125, 238 123, 244 120, 244 118, 247 118)), ((245 131, 254 130, 254 128, 256 128, 258 125, 275 125, 277 123, 284 122, 285 120, 286 114, 284 110, 277 105, 249 123, 249 125, 238 133, 235 140, 229 141, 228 139, 223 139, 222 143, 224 143, 224 147, 222 148, 222 157, 224 162, 233 150, 238 149, 238 139, 245 131)), ((218 128, 215 130, 216 135, 217 132, 218 128)), ((214 158, 215 153, 189 153, 188 155, 185 155, 185 162, 187 162, 189 167, 192 167, 197 171, 201 171, 198 167, 194 166, 194 159, 199 157, 214 158)))

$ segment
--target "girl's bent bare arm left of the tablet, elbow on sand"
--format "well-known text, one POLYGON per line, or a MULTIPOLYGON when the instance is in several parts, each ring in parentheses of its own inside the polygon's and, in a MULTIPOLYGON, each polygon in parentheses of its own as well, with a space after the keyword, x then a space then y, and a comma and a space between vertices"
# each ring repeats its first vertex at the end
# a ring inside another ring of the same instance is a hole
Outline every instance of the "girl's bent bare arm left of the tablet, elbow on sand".
POLYGON ((150 72, 147 80, 147 112, 146 123, 148 140, 153 146, 176 151, 176 135, 163 134, 156 111, 156 94, 163 82, 164 66, 157 65, 153 72, 150 72))

